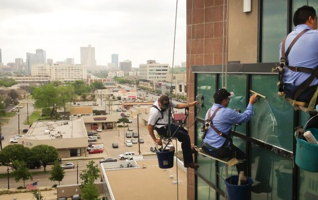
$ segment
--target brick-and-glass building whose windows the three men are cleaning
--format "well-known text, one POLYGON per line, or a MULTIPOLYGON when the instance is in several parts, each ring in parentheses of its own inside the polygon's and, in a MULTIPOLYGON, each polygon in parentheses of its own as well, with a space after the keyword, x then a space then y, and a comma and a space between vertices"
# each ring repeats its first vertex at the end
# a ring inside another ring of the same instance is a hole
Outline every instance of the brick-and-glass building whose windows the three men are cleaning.
MULTIPOLYGON (((233 91, 229 108, 242 111, 250 90, 262 94, 266 98, 258 96, 250 121, 233 125, 231 132, 233 144, 246 154, 246 175, 253 179, 250 199, 318 199, 318 173, 295 162, 300 148, 294 128, 304 127, 309 114, 294 110, 277 94, 278 74, 272 73, 279 63, 279 45, 294 29, 294 12, 306 1, 194 2, 187 0, 187 32, 195 33, 186 38, 187 93, 189 102, 202 95, 204 107, 188 117, 188 123, 194 123, 188 129, 191 142, 202 144, 200 127, 217 89, 233 91), (251 3, 248 10, 246 3, 251 3)), ((308 1, 308 5, 317 9, 318 1, 308 1)), ((222 178, 237 175, 235 167, 198 153, 194 157, 200 168, 188 169, 187 199, 225 199, 222 178)))

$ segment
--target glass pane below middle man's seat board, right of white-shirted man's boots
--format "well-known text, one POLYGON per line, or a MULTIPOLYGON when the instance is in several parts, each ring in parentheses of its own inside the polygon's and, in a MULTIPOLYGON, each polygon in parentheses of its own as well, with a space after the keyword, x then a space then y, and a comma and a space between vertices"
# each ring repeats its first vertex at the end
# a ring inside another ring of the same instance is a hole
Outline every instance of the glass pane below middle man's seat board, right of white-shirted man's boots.
POLYGON ((204 157, 201 154, 197 154, 197 164, 200 167, 197 172, 209 180, 212 184, 216 184, 216 161, 208 157, 204 157))

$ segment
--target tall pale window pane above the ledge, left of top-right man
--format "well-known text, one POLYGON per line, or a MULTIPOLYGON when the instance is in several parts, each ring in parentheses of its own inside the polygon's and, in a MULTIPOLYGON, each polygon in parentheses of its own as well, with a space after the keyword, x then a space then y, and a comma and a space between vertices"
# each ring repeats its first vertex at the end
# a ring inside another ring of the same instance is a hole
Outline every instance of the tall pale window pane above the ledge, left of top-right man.
POLYGON ((261 58, 262 63, 278 62, 279 44, 287 30, 286 0, 266 0, 263 2, 261 58))

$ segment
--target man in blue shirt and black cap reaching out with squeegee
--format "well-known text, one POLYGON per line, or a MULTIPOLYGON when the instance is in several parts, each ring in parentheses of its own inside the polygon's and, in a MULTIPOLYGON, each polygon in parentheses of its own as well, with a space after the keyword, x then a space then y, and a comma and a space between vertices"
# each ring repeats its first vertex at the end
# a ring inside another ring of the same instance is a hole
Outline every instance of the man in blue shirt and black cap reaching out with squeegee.
MULTIPOLYGON (((211 120, 211 126, 206 130, 202 148, 206 153, 216 158, 233 158, 233 154, 236 154, 235 158, 246 159, 245 153, 238 147, 230 145, 231 142, 226 137, 231 137, 230 131, 233 124, 241 124, 251 118, 253 104, 257 102, 257 95, 253 94, 250 97, 249 104, 243 113, 227 108, 230 103, 229 96, 231 96, 231 93, 223 88, 218 89, 214 94, 215 104, 206 113, 205 120, 210 120, 208 116, 214 117, 211 120), (221 132, 221 135, 218 132, 221 132)), ((240 171, 246 172, 245 162, 236 165, 236 169, 238 173, 240 171)))

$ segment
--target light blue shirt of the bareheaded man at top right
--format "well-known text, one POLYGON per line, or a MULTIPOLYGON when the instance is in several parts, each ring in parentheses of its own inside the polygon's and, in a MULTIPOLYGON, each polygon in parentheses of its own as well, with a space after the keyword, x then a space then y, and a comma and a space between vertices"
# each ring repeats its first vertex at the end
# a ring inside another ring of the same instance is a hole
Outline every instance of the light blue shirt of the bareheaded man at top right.
MULTIPOLYGON (((318 65, 318 30, 312 30, 306 24, 300 24, 295 27, 295 29, 289 33, 285 42, 285 52, 289 47, 292 40, 304 29, 310 29, 304 33, 296 41, 294 46, 287 57, 288 66, 293 67, 307 67, 314 69, 318 65)), ((281 52, 282 43, 279 45, 279 56, 282 57, 281 52)), ((284 83, 290 85, 300 85, 303 83, 310 74, 303 72, 293 72, 288 68, 285 68, 284 83)), ((318 85, 318 79, 315 78, 310 86, 318 85)))

